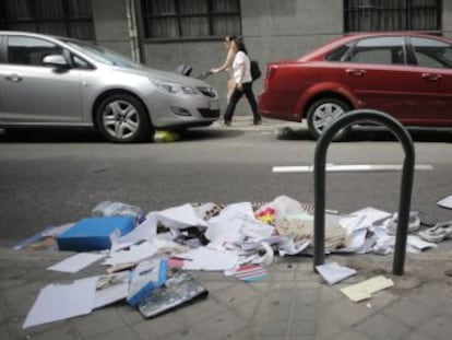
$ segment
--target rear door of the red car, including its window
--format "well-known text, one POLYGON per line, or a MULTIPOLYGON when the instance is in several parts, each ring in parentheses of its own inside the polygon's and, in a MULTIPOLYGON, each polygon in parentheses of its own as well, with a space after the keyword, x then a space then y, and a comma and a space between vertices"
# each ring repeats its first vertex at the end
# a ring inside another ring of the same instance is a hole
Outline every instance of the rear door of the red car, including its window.
POLYGON ((406 65, 404 38, 383 36, 357 42, 342 62, 342 79, 361 108, 383 110, 396 119, 411 119, 419 98, 417 72, 406 65))

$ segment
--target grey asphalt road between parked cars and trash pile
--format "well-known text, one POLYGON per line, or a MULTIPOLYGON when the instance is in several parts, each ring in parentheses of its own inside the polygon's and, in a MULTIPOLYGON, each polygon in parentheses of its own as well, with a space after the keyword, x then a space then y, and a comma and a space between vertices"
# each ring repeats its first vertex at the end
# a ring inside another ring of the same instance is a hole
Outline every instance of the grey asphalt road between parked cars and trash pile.
MULTIPOLYGON (((417 164, 412 210, 426 221, 452 220, 437 201, 452 195, 452 134, 413 132, 417 164)), ((274 174, 274 165, 311 165, 316 143, 305 131, 200 129, 174 143, 111 144, 90 130, 0 132, 0 242, 88 216, 103 200, 145 212, 186 202, 269 201, 287 195, 313 202, 312 174, 274 174)), ((382 131, 357 131, 334 143, 334 164, 401 164, 399 142, 382 131)), ((396 211, 401 173, 326 176, 326 207, 341 213, 366 207, 396 211)))

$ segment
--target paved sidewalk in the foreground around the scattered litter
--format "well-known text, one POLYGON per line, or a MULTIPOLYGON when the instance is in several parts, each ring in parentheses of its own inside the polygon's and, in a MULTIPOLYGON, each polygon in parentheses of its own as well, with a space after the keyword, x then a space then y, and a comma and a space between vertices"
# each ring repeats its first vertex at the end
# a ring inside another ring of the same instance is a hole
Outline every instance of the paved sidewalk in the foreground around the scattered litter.
POLYGON ((206 298, 154 319, 120 302, 69 320, 22 329, 25 316, 48 283, 104 273, 95 263, 80 273, 46 268, 63 251, 0 248, 0 339, 451 339, 450 250, 407 255, 405 274, 393 277, 392 256, 330 256, 358 274, 333 286, 312 271, 309 257, 275 258, 266 279, 243 283, 222 272, 191 272, 206 298), (449 272, 448 272, 449 273, 449 272), (384 274, 395 285, 354 303, 340 288, 384 274))

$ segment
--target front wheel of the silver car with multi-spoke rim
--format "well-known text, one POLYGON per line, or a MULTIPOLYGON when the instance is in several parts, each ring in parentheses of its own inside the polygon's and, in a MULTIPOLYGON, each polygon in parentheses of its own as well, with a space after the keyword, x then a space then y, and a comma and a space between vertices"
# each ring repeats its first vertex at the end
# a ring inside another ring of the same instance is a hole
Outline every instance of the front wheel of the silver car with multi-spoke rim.
POLYGON ((129 94, 112 94, 97 108, 96 125, 105 139, 114 143, 133 143, 152 137, 147 110, 129 94))

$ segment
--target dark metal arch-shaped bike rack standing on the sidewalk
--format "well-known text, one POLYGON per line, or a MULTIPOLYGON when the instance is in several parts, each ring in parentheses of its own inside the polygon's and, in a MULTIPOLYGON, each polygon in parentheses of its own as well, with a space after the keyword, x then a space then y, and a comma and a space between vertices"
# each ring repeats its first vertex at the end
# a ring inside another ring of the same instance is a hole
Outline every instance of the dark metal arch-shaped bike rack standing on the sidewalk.
POLYGON ((313 268, 324 263, 325 238, 325 161, 328 146, 334 136, 344 128, 358 121, 379 122, 391 130, 402 142, 405 160, 402 171, 401 196, 399 201, 397 231, 395 238, 394 260, 392 272, 403 275, 405 266, 406 238, 408 234, 409 208, 413 191, 415 150, 408 131, 388 114, 373 109, 357 109, 334 120, 320 136, 314 154, 314 245, 313 268))

